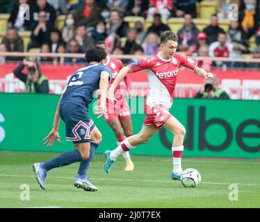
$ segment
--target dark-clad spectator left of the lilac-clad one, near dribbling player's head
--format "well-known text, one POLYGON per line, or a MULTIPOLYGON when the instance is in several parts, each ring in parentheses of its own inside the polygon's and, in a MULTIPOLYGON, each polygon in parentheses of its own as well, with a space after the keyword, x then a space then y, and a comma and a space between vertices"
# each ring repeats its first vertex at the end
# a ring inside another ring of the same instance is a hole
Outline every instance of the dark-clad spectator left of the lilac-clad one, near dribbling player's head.
POLYGON ((127 40, 121 42, 121 47, 125 55, 132 55, 136 48, 140 46, 137 42, 138 33, 135 28, 129 28, 127 31, 127 40))

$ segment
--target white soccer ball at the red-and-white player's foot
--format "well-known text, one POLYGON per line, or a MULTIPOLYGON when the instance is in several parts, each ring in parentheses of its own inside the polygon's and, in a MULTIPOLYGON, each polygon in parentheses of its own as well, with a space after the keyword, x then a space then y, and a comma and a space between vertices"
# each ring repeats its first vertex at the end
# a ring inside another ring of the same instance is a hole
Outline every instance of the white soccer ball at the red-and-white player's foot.
POLYGON ((184 187, 197 187, 202 180, 200 172, 197 169, 188 168, 181 173, 181 184, 184 187))

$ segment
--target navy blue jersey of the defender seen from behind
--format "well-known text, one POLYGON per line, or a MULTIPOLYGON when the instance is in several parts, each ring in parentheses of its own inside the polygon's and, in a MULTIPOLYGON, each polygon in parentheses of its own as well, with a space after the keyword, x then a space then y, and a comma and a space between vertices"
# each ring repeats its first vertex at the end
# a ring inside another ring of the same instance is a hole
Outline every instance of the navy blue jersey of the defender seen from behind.
POLYGON ((67 83, 60 105, 63 103, 74 103, 88 109, 88 105, 93 99, 93 93, 96 89, 99 89, 102 71, 107 71, 111 80, 112 71, 99 63, 87 65, 76 71, 67 83))

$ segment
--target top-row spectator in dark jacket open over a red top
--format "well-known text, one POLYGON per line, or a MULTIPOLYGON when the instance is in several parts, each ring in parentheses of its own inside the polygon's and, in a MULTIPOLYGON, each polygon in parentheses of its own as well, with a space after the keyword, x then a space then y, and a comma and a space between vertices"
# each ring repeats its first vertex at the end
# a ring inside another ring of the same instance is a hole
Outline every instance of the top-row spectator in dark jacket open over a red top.
POLYGON ((79 24, 83 24, 88 27, 95 27, 99 21, 100 12, 101 8, 97 6, 95 0, 84 0, 83 6, 76 8, 73 11, 73 14, 79 24))

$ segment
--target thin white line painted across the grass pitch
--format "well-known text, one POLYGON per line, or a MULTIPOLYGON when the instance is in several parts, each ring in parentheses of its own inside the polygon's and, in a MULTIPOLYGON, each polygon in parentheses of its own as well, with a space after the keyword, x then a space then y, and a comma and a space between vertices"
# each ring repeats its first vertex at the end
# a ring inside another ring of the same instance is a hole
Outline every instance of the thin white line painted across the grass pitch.
MULTIPOLYGON (((11 174, 0 174, 1 176, 10 176, 10 177, 21 177, 21 178, 35 178, 35 176, 31 175, 11 175, 11 174)), ((64 177, 64 176, 49 176, 48 178, 58 178, 58 179, 66 179, 71 180, 74 178, 64 177)), ((115 180, 115 181, 128 181, 128 182, 172 182, 171 180, 131 180, 131 179, 118 179, 118 178, 91 178, 91 180, 115 180)), ((245 185, 245 186, 260 186, 260 184, 254 183, 240 183, 240 182, 201 182, 206 185, 245 185)))

